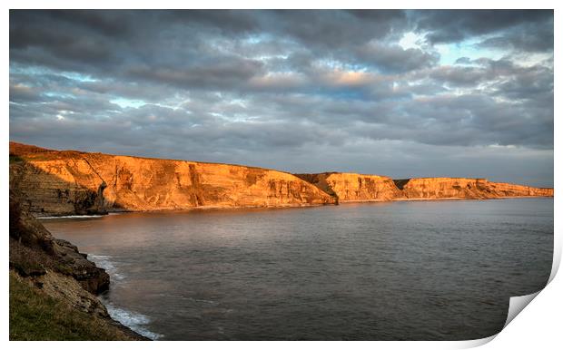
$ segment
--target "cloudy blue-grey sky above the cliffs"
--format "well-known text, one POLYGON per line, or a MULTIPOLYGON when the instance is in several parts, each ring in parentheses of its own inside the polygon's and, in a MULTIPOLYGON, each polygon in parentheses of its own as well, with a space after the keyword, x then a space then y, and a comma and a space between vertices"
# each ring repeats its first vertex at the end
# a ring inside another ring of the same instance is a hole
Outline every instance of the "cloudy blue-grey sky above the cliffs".
POLYGON ((10 11, 10 140, 553 185, 553 11, 10 11))

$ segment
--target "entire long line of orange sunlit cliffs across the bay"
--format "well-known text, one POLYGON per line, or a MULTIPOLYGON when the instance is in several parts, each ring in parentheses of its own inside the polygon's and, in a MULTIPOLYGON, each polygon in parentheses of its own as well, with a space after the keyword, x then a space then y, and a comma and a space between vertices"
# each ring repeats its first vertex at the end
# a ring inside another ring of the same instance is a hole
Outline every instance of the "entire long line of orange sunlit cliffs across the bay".
POLYGON ((295 174, 230 164, 53 151, 10 142, 10 189, 40 215, 108 211, 302 207, 348 201, 553 197, 553 189, 485 179, 392 180, 295 174))

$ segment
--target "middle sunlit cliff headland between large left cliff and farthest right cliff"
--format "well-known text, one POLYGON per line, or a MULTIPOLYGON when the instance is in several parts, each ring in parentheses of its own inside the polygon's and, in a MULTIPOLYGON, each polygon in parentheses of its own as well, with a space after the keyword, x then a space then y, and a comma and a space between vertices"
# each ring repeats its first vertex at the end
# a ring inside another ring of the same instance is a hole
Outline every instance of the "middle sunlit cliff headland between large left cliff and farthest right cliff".
POLYGON ((384 201, 400 197, 400 190, 391 178, 346 172, 296 174, 319 189, 335 196, 340 202, 384 201))

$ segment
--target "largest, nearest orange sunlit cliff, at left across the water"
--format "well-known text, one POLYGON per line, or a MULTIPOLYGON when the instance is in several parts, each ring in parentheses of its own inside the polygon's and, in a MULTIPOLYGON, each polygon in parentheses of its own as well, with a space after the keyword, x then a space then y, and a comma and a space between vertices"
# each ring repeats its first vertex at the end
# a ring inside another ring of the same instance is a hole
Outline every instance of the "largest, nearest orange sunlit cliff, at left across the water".
POLYGON ((10 188, 35 215, 336 203, 311 183, 276 170, 52 151, 15 142, 10 142, 10 188))

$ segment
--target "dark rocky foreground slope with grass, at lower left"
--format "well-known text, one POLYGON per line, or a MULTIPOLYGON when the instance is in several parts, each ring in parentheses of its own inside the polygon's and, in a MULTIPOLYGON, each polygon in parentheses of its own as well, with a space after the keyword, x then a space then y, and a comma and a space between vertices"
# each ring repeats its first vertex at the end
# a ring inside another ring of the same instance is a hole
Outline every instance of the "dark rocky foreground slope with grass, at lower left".
POLYGON ((144 340, 114 321, 95 294, 109 276, 54 238, 10 193, 10 340, 144 340))

